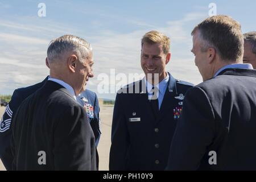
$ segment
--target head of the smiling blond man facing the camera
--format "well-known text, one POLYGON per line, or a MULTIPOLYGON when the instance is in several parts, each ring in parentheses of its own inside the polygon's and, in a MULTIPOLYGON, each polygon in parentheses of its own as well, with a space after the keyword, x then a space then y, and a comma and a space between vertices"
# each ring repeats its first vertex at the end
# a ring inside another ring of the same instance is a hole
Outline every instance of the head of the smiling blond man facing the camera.
POLYGON ((141 67, 146 77, 152 74, 152 80, 148 81, 154 84, 154 74, 159 74, 159 82, 162 81, 171 57, 170 39, 158 31, 150 31, 143 36, 141 47, 141 67))

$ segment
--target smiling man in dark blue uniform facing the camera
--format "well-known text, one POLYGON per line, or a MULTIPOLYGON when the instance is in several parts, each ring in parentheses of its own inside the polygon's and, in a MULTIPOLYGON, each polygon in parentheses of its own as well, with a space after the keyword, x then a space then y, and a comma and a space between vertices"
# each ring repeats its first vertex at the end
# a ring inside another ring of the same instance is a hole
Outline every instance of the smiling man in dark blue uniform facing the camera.
POLYGON ((166 72, 170 39, 158 31, 142 38, 145 77, 117 93, 112 122, 110 170, 163 170, 183 97, 192 87, 166 72))

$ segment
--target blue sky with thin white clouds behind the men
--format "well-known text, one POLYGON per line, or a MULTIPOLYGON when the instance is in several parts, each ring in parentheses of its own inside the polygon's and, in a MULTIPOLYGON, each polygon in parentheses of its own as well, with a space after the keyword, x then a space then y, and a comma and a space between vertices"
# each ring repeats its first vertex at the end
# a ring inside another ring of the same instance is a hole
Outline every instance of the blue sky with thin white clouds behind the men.
MULTIPOLYGON (((242 31, 256 29, 255 1, 0 1, 0 94, 42 81, 48 43, 73 34, 88 40, 94 51, 94 78, 87 88, 97 93, 101 73, 142 73, 141 38, 158 30, 171 38, 167 71, 181 80, 199 84, 191 31, 216 3, 217 14, 232 16, 242 31), (46 17, 38 16, 45 3, 46 17)), ((127 81, 128 82, 128 81, 127 81)), ((99 94, 114 98, 115 94, 99 94)))

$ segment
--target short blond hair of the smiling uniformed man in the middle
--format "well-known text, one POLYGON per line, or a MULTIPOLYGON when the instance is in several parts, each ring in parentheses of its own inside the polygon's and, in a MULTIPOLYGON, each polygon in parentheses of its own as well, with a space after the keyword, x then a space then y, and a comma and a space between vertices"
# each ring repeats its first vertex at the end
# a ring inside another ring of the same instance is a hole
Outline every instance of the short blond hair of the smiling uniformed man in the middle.
POLYGON ((168 38, 166 35, 162 34, 161 32, 158 32, 155 30, 147 32, 141 40, 141 47, 143 47, 143 44, 145 42, 148 44, 160 43, 163 46, 164 54, 167 55, 167 53, 170 52, 170 38, 168 38))

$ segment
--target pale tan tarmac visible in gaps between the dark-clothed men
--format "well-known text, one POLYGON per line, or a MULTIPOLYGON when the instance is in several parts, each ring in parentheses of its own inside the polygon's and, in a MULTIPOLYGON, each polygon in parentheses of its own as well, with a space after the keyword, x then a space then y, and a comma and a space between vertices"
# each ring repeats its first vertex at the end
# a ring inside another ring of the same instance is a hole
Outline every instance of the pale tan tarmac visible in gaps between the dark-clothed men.
MULTIPOLYGON (((0 107, 0 117, 2 117, 5 107, 0 107)), ((109 169, 109 150, 111 144, 111 125, 113 117, 113 106, 102 105, 101 106, 101 138, 98 144, 98 153, 100 158, 100 171, 105 171, 109 169)), ((3 164, 0 160, 0 171, 5 170, 3 164)))

